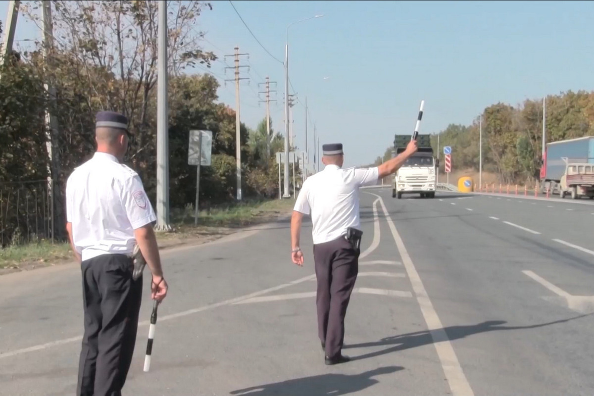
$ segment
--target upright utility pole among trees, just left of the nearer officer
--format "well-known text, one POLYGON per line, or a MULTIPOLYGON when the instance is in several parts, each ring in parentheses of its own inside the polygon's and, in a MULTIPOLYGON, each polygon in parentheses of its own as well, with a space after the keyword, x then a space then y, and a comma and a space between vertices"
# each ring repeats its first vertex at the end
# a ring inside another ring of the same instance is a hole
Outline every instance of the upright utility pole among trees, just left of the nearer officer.
MULTIPOLYGON (((43 0, 42 5, 43 14, 43 58, 45 61, 45 68, 50 68, 52 64, 51 53, 53 52, 53 22, 52 22, 52 2, 49 0, 43 0)), ((49 73, 49 75, 51 75, 49 73)), ((48 196, 52 206, 50 211, 52 214, 52 221, 55 220, 55 208, 58 200, 56 199, 60 189, 56 189, 56 182, 58 181, 58 175, 60 170, 60 159, 58 151, 58 120, 52 115, 52 110, 55 109, 56 104, 56 88, 47 82, 43 84, 45 90, 49 94, 49 108, 45 110, 45 123, 46 123, 46 148, 48 150, 48 196)), ((59 210, 59 218, 62 220, 62 210, 59 210)), ((52 240, 54 237, 55 229, 52 227, 52 240)))

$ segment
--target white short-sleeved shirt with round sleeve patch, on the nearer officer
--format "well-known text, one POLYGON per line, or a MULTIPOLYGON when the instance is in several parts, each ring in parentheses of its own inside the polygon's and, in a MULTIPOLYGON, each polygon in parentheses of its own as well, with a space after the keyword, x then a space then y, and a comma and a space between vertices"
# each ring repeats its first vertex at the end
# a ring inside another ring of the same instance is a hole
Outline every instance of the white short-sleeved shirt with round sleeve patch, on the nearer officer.
POLYGON ((95 153, 66 183, 66 217, 83 261, 134 251, 134 230, 157 220, 138 173, 95 153))

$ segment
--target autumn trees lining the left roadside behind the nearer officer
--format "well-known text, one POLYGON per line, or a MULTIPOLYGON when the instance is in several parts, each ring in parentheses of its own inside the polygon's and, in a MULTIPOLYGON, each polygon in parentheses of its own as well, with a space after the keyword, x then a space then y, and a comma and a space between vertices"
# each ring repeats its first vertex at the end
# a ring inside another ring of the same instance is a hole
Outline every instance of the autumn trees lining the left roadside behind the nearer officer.
MULTIPOLYGON (((24 14, 41 26, 41 2, 28 3, 24 14)), ((13 52, 0 69, 0 246, 25 235, 48 236, 50 217, 56 237, 63 239, 65 182, 93 155, 99 110, 128 116, 134 137, 127 164, 140 174, 155 204, 157 2, 52 4, 53 45, 36 43, 31 52, 13 52), (55 91, 46 91, 44 84, 55 91), (46 109, 55 119, 51 127, 46 109), (54 180, 53 191, 48 178, 54 180)), ((212 164, 201 170, 201 207, 233 201, 235 110, 219 102, 216 78, 191 70, 207 69, 217 59, 202 49, 204 33, 196 27, 211 5, 169 1, 168 7, 170 206, 195 201, 196 169, 187 163, 190 129, 213 132, 212 164)), ((274 153, 284 148, 284 140, 273 130, 267 137, 265 117, 254 129, 242 123, 244 198, 278 194, 268 145, 274 153)))

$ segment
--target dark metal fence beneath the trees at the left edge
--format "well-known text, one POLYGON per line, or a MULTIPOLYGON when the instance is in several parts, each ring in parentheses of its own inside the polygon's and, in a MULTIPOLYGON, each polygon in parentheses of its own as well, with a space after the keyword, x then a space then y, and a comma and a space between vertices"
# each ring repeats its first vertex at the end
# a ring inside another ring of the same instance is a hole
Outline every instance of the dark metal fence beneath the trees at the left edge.
POLYGON ((0 246, 54 239, 53 180, 0 183, 0 246))

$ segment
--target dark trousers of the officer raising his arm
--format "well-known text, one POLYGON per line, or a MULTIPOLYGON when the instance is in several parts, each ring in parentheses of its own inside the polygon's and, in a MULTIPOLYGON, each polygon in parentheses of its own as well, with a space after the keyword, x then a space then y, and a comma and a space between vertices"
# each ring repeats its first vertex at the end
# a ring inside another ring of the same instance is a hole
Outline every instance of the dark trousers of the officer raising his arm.
POLYGON ((359 273, 359 251, 345 237, 314 245, 318 335, 326 344, 326 356, 342 350, 345 315, 359 273))

